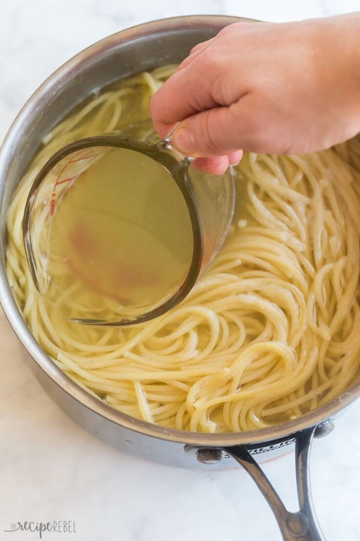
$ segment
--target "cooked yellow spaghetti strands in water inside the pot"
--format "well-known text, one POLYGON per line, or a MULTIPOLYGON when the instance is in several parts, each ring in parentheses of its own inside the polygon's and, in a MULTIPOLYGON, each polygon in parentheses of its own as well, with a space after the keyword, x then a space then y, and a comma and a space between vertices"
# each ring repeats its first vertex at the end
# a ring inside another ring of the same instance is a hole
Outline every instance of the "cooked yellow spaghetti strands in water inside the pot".
POLYGON ((22 218, 40 167, 65 144, 149 117, 173 68, 94 94, 44 138, 7 216, 7 271, 53 362, 117 410, 180 430, 261 428, 337 397, 359 374, 360 141, 307 156, 246 154, 225 245, 173 311, 132 327, 73 323, 40 296, 22 218))

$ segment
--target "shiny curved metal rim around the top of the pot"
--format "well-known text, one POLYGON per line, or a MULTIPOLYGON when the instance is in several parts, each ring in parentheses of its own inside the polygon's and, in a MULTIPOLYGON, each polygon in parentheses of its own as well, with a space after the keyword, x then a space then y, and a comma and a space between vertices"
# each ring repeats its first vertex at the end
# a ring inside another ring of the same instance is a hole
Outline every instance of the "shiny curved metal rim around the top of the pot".
MULTIPOLYGON (((3 144, 0 148, 0 216, 2 217, 1 228, 5 226, 5 220, 2 213, 4 192, 6 188, 7 172, 11 165, 13 155, 16 153, 18 134, 26 123, 26 118, 31 111, 39 111, 43 105, 55 96, 60 83, 65 81, 79 67, 84 67, 93 57, 101 57, 108 49, 114 48, 123 42, 132 41, 135 38, 161 34, 168 31, 169 24, 173 31, 184 30, 186 28, 206 27, 215 23, 223 26, 236 22, 255 22, 254 19, 241 17, 231 17, 222 15, 189 15, 181 17, 171 17, 158 19, 142 23, 140 25, 121 30, 116 34, 112 34, 100 41, 90 45, 77 55, 73 56, 53 72, 42 85, 32 94, 29 100, 25 103, 21 111, 19 111, 13 121, 8 133, 6 134, 3 144)), ((0 238, 0 304, 3 307, 6 318, 8 319, 13 331, 15 331, 19 341, 28 351, 33 361, 67 394, 71 395, 80 404, 85 406, 92 412, 110 420, 112 423, 123 426, 135 432, 146 434, 162 440, 168 440, 188 445, 206 447, 223 447, 228 445, 244 445, 262 443, 277 438, 290 436, 299 430, 317 425, 325 419, 333 417, 338 411, 352 403, 360 394, 360 381, 353 384, 347 391, 339 397, 331 400, 328 404, 317 408, 303 415, 300 418, 287 421, 279 425, 259 428, 257 430, 246 432, 227 432, 219 434, 205 434, 198 432, 187 432, 175 430, 174 428, 166 428, 159 425, 153 425, 130 417, 125 413, 117 411, 115 408, 108 406, 103 401, 85 391, 76 382, 65 375, 60 368, 50 359, 50 357, 39 346, 35 338, 30 332, 30 329, 25 324, 22 314, 17 308, 16 302, 12 297, 10 285, 5 271, 5 246, 4 235, 0 238)))

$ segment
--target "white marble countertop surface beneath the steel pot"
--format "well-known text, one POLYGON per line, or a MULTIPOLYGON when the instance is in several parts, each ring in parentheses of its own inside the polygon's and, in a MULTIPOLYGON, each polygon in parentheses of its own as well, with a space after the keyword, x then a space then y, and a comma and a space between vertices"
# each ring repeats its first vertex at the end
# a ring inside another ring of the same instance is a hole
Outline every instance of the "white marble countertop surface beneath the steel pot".
MULTIPOLYGON (((80 49, 128 26, 186 14, 286 21, 360 10, 360 0, 12 0, 0 8, 0 141, 38 85, 80 49), (276 4, 274 6, 274 4, 276 4)), ((12 522, 72 520, 64 541, 277 541, 274 517, 242 470, 147 463, 105 445, 52 403, 0 314, 0 540, 38 539, 12 522)), ((360 401, 316 440, 313 495, 327 541, 360 539, 360 401)), ((293 460, 265 470, 295 510, 293 460), (290 482, 289 482, 290 480, 290 482)))

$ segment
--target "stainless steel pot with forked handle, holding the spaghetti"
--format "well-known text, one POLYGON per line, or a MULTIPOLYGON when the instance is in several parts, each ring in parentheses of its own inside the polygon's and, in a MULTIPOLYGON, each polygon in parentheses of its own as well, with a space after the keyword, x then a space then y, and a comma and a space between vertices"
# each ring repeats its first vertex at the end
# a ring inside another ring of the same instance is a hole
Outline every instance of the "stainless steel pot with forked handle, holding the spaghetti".
POLYGON ((40 140, 74 105, 95 88, 134 72, 178 63, 201 41, 239 20, 190 16, 142 24, 100 41, 59 68, 33 94, 13 122, 0 151, 0 301, 18 339, 29 353, 37 379, 53 400, 86 430, 107 443, 163 464, 219 469, 234 459, 254 478, 273 508, 286 540, 321 540, 309 492, 309 453, 313 437, 332 430, 334 416, 360 394, 360 382, 329 404, 294 421, 242 433, 198 434, 128 417, 92 397, 69 379, 32 337, 12 297, 5 273, 5 216, 11 197, 40 140), (257 464, 296 447, 300 512, 289 513, 257 464), (256 460, 255 460, 256 459, 256 460))

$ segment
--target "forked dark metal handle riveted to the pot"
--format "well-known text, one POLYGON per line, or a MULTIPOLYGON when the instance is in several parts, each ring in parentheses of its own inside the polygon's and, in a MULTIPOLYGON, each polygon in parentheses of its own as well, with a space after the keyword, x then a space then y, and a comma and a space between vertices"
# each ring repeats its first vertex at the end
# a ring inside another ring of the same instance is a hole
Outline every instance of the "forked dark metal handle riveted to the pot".
POLYGON ((287 511, 279 494, 245 447, 239 445, 223 447, 223 450, 239 462, 254 479, 275 514, 284 541, 325 541, 317 524, 310 492, 309 458, 316 429, 317 427, 313 426, 295 435, 296 485, 300 505, 300 511, 296 513, 287 511))

